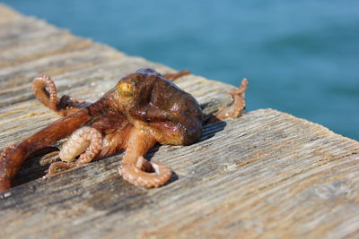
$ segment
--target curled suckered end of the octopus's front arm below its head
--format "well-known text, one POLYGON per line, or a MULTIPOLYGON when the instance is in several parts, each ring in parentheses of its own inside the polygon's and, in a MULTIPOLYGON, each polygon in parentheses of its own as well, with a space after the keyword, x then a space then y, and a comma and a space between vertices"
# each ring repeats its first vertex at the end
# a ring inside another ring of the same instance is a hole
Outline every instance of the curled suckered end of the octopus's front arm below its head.
POLYGON ((136 164, 123 163, 118 168, 119 175, 129 183, 146 188, 159 187, 165 184, 171 177, 171 170, 160 162, 148 162, 144 157, 139 157, 136 164), (149 168, 151 168, 149 170, 149 168), (153 172, 145 172, 145 171, 153 172))

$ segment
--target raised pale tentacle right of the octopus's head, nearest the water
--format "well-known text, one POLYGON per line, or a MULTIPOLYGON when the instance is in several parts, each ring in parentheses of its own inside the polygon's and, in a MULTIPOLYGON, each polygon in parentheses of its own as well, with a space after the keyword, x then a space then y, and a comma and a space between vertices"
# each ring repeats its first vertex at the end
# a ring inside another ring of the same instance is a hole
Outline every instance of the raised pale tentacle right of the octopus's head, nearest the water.
POLYGON ((241 86, 238 89, 230 90, 228 93, 232 95, 232 105, 229 107, 223 107, 219 109, 211 122, 221 121, 228 118, 234 118, 241 116, 244 108, 246 107, 246 101, 244 100, 244 92, 247 90, 248 81, 243 79, 241 86))

